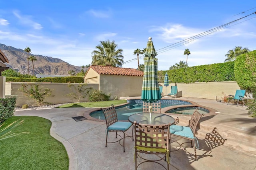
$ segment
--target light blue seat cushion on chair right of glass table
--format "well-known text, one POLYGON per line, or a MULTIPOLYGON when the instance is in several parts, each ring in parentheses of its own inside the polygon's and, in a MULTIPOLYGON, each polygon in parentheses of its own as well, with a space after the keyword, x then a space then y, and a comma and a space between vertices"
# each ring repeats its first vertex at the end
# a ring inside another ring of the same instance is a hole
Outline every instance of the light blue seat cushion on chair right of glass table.
POLYGON ((179 125, 171 125, 170 126, 170 133, 174 135, 179 135, 182 137, 187 137, 190 139, 194 139, 194 135, 190 127, 186 126, 179 126, 179 125))

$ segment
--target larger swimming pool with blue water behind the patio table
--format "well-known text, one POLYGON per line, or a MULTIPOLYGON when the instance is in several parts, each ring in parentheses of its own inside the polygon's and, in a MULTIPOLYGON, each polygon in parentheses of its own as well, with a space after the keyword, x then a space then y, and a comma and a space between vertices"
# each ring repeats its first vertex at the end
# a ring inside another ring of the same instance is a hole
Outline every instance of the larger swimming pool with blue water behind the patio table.
MULTIPOLYGON (((118 120, 128 120, 128 117, 135 113, 141 113, 142 112, 142 105, 143 101, 140 99, 130 99, 127 100, 129 104, 122 105, 116 107, 116 113, 118 120)), ((192 103, 184 100, 172 100, 172 99, 161 99, 161 108, 169 107, 169 106, 176 106, 176 105, 190 105, 192 103)), ((102 110, 93 111, 90 113, 91 117, 94 117, 96 119, 105 120, 104 114, 102 110)))

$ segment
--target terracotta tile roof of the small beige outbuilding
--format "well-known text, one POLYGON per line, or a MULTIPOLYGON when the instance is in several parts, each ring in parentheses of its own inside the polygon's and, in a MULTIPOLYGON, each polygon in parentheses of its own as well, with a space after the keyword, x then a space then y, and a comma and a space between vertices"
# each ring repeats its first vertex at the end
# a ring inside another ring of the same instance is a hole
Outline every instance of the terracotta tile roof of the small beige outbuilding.
MULTIPOLYGON (((98 74, 123 75, 123 76, 143 76, 144 72, 134 68, 122 68, 112 66, 90 66, 98 74)), ((90 69, 89 68, 89 69, 90 69)))

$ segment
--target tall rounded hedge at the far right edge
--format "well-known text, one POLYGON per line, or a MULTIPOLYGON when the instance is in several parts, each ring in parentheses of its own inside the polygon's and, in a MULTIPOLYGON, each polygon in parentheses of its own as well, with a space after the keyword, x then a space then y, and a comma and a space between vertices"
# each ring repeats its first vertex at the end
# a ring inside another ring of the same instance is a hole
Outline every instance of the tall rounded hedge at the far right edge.
POLYGON ((236 57, 234 73, 238 86, 249 92, 256 89, 256 50, 236 57))

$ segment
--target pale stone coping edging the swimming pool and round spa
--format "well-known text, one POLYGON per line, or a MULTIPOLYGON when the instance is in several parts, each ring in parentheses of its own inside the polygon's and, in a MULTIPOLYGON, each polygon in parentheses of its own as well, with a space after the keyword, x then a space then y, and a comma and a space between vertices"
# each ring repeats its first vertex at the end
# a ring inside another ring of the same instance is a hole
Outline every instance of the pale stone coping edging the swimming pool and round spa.
MULTIPOLYGON (((134 100, 140 100, 140 98, 132 98, 134 100)), ((176 105, 176 106, 168 106, 168 107, 164 107, 161 109, 161 113, 162 114, 166 114, 166 115, 175 115, 175 116, 191 116, 191 115, 182 115, 182 114, 176 114, 176 113, 167 113, 166 111, 170 110, 170 109, 176 109, 176 108, 182 108, 182 107, 202 107, 204 109, 207 109, 209 110, 210 112, 207 113, 207 114, 204 114, 202 117, 208 117, 208 116, 214 116, 214 115, 217 115, 218 114, 218 111, 216 109, 213 109, 211 107, 206 107, 206 106, 202 106, 200 104, 197 104, 196 102, 192 102, 190 100, 183 100, 183 99, 174 99, 174 98, 162 98, 164 100, 182 100, 182 101, 185 101, 185 102, 190 102, 191 104, 189 105, 176 105)), ((131 100, 131 99, 130 99, 131 100)), ((129 104, 128 102, 127 103, 124 103, 124 104, 119 104, 119 105, 116 105, 115 107, 119 107, 119 106, 123 106, 123 105, 127 105, 129 104)), ((106 107, 94 107, 92 108, 90 111, 88 112, 84 112, 84 117, 86 117, 87 119, 89 120, 92 120, 92 121, 98 121, 98 122, 106 122, 105 119, 104 120, 101 120, 101 119, 96 119, 92 116, 90 116, 90 113, 94 112, 94 111, 99 111, 101 110, 101 108, 106 108, 106 107)), ((128 121, 128 120, 127 120, 128 121)))

